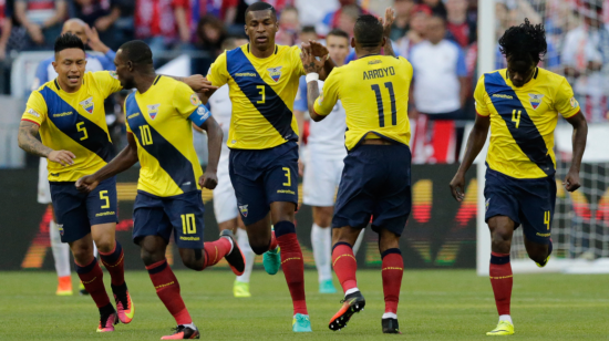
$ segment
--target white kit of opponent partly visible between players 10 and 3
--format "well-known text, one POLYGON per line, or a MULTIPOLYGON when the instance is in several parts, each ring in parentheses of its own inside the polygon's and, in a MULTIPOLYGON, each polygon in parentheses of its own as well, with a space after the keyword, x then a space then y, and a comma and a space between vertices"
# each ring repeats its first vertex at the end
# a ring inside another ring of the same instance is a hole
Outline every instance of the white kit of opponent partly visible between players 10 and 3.
POLYGON ((214 214, 218 224, 237 218, 237 197, 228 174, 228 156, 230 149, 226 145, 228 127, 233 113, 233 103, 228 96, 228 85, 224 85, 209 97, 209 111, 223 130, 223 148, 218 163, 218 186, 214 189, 214 214))

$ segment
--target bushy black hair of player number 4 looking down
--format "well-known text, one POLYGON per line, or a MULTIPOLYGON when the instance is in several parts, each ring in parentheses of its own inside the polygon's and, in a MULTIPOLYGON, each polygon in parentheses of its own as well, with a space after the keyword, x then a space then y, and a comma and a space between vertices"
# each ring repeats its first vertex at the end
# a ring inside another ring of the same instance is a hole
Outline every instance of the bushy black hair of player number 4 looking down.
POLYGON ((528 19, 525 22, 507 29, 499 39, 499 51, 513 60, 529 61, 536 64, 548 52, 546 30, 543 24, 531 24, 528 19))

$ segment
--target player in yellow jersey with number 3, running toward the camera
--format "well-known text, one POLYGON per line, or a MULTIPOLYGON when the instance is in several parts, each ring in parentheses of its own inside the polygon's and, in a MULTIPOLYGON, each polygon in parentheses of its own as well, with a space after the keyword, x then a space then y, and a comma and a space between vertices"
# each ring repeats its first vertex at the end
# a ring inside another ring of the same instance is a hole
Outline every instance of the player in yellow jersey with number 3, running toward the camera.
MULTIPOLYGON (((268 273, 277 273, 279 266, 283 269, 293 302, 292 331, 307 332, 311 324, 304 298, 304 264, 293 224, 298 204, 298 125, 292 115, 298 81, 304 70, 300 49, 275 44, 278 23, 272 6, 251 4, 246 10, 245 30, 249 44, 218 56, 207 80, 214 86, 229 86, 229 175, 249 244, 257 255, 265 254, 268 273)), ((310 46, 324 61, 323 78, 334 63, 324 46, 316 42, 310 46)))

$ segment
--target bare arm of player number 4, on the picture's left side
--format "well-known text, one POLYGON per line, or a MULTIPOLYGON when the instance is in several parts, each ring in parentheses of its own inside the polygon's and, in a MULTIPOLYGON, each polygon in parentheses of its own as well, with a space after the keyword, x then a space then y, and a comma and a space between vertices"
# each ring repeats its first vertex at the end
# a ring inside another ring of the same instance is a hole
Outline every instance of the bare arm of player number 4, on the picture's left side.
POLYGON ((467 169, 469 169, 469 167, 474 163, 474 159, 476 159, 476 156, 478 156, 482 147, 484 147, 489 126, 489 116, 476 115, 474 128, 472 130, 472 132, 469 133, 469 137, 467 138, 465 156, 463 157, 463 162, 461 163, 457 173, 450 184, 451 193, 457 202, 463 200, 463 198, 465 197, 465 173, 467 173, 467 169))

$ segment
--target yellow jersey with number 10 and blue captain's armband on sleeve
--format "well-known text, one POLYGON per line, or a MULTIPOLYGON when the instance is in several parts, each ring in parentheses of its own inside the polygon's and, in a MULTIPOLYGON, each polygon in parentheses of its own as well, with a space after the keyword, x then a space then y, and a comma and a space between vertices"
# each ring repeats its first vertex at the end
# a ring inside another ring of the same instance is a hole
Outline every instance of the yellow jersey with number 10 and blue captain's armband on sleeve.
POLYGON ((125 115, 142 167, 138 190, 171 197, 200 189, 190 123, 200 125, 210 114, 188 85, 159 75, 145 93, 127 96, 125 115))

